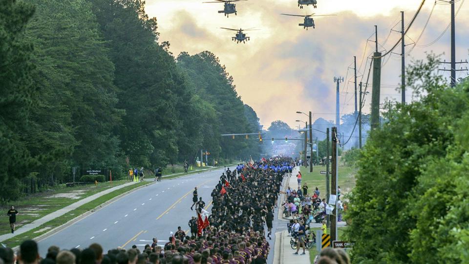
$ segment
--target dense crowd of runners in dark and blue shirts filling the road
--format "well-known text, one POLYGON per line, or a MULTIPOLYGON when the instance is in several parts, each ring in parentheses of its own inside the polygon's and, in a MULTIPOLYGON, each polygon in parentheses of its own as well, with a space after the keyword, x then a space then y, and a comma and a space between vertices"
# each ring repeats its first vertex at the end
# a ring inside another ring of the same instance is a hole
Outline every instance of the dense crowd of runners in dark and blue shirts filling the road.
MULTIPOLYGON (((189 221, 191 236, 179 226, 164 246, 156 238, 143 251, 132 246, 103 252, 97 243, 84 250, 52 246, 41 259, 37 243, 29 240, 21 244, 17 258, 11 249, 0 247, 0 264, 265 264, 280 186, 294 166, 291 158, 276 157, 226 170, 211 194, 211 214, 203 210, 205 202, 197 199, 195 188, 191 209, 195 206, 197 218, 189 221)), ((348 263, 334 257, 320 261, 348 263)))

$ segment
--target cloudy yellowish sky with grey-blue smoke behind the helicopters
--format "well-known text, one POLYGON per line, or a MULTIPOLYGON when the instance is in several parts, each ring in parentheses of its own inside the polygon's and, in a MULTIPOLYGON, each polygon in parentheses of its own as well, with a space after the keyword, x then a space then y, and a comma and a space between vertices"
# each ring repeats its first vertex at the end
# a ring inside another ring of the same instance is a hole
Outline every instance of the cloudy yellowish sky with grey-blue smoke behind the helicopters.
MULTIPOLYGON (((456 0, 456 60, 469 58, 469 2, 456 0)), ((374 51, 374 25, 378 26, 379 50, 391 48, 400 38, 401 14, 405 11, 405 25, 414 16, 420 0, 318 0, 317 8, 298 8, 296 0, 248 0, 236 2, 237 15, 228 18, 218 14, 223 3, 203 3, 202 0, 147 0, 146 11, 156 17, 160 42, 169 41, 170 51, 196 54, 205 50, 220 58, 221 64, 233 76, 236 91, 245 104, 250 105, 265 128, 275 120, 282 120, 292 128, 295 120, 306 121, 296 111, 312 111, 313 120, 322 117, 335 120, 336 83, 334 77, 343 77, 340 85, 340 113, 354 111, 353 62, 357 58, 358 82, 366 82, 369 60, 374 51), (307 15, 335 14, 316 17, 316 28, 298 26, 302 17, 282 16, 280 13, 307 15), (251 40, 236 44, 233 31, 220 29, 252 28, 247 31, 251 40), (371 37, 371 38, 370 38, 371 37), (370 41, 367 39, 370 38, 370 41), (372 42, 373 41, 373 42, 372 42), (363 77, 364 76, 364 77, 363 77), (363 80, 362 80, 363 78, 363 80)), ((425 59, 427 53, 449 61, 449 30, 434 44, 450 22, 450 5, 438 0, 426 0, 422 12, 408 31, 405 39, 406 65, 425 59), (433 12, 431 12, 433 10, 433 12), (431 16, 430 16, 431 13, 431 16), (426 22, 428 25, 423 31, 426 22), (423 32, 417 45, 412 44, 423 32)), ((400 45, 394 50, 401 52, 400 45)), ((449 65, 441 65, 441 68, 449 65)), ((466 68, 467 64, 457 65, 466 68)), ((440 71, 448 76, 446 71, 440 71)), ((391 54, 383 58, 381 102, 399 101, 396 90, 401 82, 401 56, 391 54)), ((466 77, 460 71, 457 77, 466 77)), ((371 83, 371 77, 370 77, 371 83)), ((368 89, 371 92, 371 87, 368 89)), ((406 101, 412 97, 406 90, 406 101)), ((366 95, 363 112, 369 112, 371 93, 366 95)))

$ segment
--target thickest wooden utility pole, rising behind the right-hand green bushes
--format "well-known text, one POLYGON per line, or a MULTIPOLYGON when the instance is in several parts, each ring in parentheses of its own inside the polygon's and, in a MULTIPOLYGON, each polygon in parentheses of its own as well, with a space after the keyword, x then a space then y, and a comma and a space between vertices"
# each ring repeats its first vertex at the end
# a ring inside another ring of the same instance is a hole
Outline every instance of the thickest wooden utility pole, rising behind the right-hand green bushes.
POLYGON ((371 129, 380 127, 381 52, 378 52, 378 26, 375 25, 376 50, 373 53, 373 90, 371 94, 371 129))

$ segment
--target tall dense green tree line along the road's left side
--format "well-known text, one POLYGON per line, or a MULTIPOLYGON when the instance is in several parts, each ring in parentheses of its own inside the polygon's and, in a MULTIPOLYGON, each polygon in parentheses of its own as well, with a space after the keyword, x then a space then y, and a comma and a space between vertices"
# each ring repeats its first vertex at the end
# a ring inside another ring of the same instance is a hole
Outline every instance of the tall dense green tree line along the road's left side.
POLYGON ((74 166, 123 175, 191 163, 200 149, 259 153, 220 137, 259 127, 226 68, 208 51, 175 58, 144 6, 0 0, 2 200, 67 181, 74 166))

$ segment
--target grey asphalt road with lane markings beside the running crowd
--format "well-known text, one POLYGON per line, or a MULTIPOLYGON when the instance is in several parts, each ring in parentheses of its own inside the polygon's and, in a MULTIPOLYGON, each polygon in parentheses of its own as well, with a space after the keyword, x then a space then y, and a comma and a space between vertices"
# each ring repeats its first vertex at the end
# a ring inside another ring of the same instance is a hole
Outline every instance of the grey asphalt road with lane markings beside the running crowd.
MULTIPOLYGON (((218 183, 223 168, 210 172, 163 179, 88 215, 64 230, 39 242, 41 256, 47 248, 57 245, 61 249, 74 247, 85 249, 91 243, 99 243, 105 252, 118 246, 130 248, 137 245, 141 250, 151 244, 153 237, 164 245, 170 232, 177 226, 189 230, 188 221, 195 216, 191 211, 192 191, 197 186, 199 197, 206 203, 209 212, 212 199, 210 194, 218 183)), ((274 221, 274 230, 277 220, 274 221)), ((269 263, 272 263, 275 237, 273 234, 269 263)))

